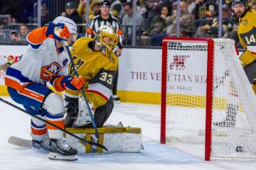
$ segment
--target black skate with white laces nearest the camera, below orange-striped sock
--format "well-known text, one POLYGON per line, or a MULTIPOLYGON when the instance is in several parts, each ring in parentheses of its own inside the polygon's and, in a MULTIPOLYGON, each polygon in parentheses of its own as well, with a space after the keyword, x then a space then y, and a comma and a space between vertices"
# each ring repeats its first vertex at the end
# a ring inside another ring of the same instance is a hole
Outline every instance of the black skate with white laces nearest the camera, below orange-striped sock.
POLYGON ((77 149, 65 144, 65 138, 60 140, 50 139, 49 159, 75 161, 78 159, 77 149))

